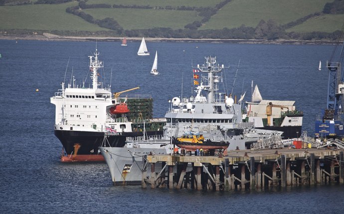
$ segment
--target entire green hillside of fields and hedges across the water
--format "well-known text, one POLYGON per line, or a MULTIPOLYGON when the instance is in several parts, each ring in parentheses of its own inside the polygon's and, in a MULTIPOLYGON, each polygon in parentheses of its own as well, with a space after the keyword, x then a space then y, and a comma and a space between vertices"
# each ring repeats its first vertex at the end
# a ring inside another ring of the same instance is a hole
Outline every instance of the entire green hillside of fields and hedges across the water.
POLYGON ((0 20, 3 35, 334 40, 344 0, 0 0, 0 20))

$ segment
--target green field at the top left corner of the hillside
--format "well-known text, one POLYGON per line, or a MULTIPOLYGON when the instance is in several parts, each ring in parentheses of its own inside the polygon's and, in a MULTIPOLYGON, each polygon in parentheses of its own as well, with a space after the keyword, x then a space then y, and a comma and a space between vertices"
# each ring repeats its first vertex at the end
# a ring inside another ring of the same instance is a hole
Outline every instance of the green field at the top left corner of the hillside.
POLYGON ((109 30, 91 24, 82 18, 66 13, 66 8, 78 2, 63 4, 30 4, 21 6, 0 6, 0 29, 30 30, 109 30))

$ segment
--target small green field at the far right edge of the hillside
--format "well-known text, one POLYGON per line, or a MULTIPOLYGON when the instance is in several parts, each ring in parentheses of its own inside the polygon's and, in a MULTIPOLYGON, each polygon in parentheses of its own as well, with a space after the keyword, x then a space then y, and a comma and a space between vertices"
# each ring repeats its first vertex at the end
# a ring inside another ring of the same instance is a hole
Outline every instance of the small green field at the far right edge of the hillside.
POLYGON ((344 14, 338 15, 322 15, 314 18, 310 18, 302 24, 287 29, 287 32, 334 32, 341 30, 343 26, 344 14))

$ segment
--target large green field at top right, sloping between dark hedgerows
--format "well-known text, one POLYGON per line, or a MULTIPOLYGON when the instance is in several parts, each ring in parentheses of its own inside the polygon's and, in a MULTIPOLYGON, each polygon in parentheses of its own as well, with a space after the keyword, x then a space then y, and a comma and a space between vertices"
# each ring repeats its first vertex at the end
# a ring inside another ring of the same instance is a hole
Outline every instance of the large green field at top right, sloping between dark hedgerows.
POLYGON ((286 24, 322 11, 325 3, 331 1, 333 0, 233 0, 200 29, 234 28, 242 24, 256 27, 262 19, 274 19, 278 24, 286 24))

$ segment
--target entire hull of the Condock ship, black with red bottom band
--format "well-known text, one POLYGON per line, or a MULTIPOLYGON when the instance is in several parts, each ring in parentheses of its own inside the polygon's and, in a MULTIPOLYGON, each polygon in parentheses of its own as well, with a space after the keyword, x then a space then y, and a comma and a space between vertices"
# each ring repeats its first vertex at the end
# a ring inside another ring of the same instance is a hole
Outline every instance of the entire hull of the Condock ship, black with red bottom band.
MULTIPOLYGON (((147 136, 163 134, 163 131, 146 132, 147 136)), ((54 134, 63 145, 62 162, 104 161, 98 147, 104 144, 105 134, 107 136, 106 146, 110 147, 123 147, 126 137, 143 136, 142 131, 117 132, 116 135, 110 135, 105 132, 55 130, 54 134)))

